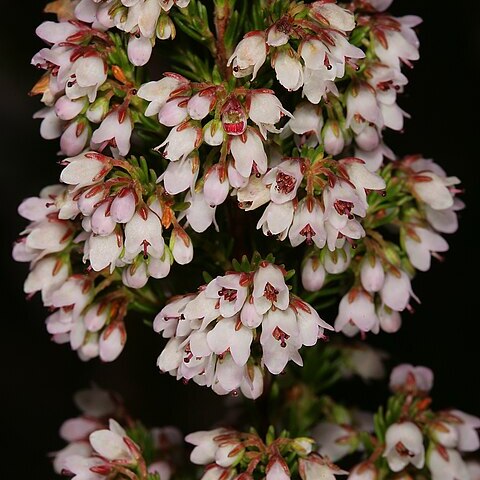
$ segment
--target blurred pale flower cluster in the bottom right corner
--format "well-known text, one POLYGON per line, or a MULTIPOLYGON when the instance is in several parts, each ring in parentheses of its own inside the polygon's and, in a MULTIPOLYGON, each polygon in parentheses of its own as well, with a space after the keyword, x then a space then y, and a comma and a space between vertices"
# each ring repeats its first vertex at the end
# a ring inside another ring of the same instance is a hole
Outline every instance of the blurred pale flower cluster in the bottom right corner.
POLYGON ((351 426, 321 427, 323 437, 337 438, 328 450, 334 460, 353 451, 364 452, 349 478, 370 480, 392 474, 415 477, 425 470, 434 480, 471 478, 462 454, 478 450, 480 418, 455 409, 432 411, 428 396, 432 386, 429 368, 399 365, 390 377, 394 395, 385 412, 375 415, 374 429, 367 436, 351 426))

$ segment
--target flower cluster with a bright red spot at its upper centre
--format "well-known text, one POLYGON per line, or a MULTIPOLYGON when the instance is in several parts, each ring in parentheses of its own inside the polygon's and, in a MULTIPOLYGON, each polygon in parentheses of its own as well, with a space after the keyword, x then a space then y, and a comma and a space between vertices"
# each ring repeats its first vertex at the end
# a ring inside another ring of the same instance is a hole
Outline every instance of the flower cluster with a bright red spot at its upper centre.
POLYGON ((252 174, 267 172, 267 133, 278 133, 275 124, 291 116, 272 90, 229 92, 226 83, 194 83, 173 73, 142 85, 138 96, 150 102, 145 115, 173 127, 157 147, 170 161, 161 178, 172 195, 190 190, 185 215, 199 233, 214 222, 231 187, 248 188, 252 174), (219 161, 200 161, 202 145, 218 150, 219 161))

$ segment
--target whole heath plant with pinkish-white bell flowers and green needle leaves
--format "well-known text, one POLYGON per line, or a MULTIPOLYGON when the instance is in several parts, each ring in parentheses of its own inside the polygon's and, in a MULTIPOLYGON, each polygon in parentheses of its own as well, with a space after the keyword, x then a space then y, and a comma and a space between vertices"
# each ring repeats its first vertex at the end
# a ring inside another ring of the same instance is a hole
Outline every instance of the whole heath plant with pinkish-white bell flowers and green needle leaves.
POLYGON ((414 278, 448 250, 464 206, 457 177, 385 143, 409 117, 397 99, 421 23, 391 3, 46 6, 56 18, 37 28, 31 93, 62 171, 18 209, 25 293, 41 294, 53 341, 83 361, 115 361, 147 318, 168 339, 160 371, 244 399, 235 425, 186 436, 189 464, 178 429, 81 391, 57 473, 478 479, 465 455, 480 419, 432 406, 428 368, 396 367, 375 415, 328 391, 383 376, 368 339, 401 328, 414 278))

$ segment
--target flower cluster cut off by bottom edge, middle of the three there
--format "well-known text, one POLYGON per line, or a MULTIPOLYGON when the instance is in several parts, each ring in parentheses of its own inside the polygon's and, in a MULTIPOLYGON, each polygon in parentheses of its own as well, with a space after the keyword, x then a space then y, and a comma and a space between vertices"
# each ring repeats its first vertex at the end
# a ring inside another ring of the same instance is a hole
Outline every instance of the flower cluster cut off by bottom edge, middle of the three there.
POLYGON ((190 460, 206 465, 203 480, 252 479, 259 475, 267 480, 288 480, 296 475, 302 480, 335 480, 335 475, 347 474, 328 458, 312 452, 312 439, 289 438, 286 433, 276 438, 272 428, 266 442, 255 431, 227 428, 191 433, 185 440, 195 445, 190 460))

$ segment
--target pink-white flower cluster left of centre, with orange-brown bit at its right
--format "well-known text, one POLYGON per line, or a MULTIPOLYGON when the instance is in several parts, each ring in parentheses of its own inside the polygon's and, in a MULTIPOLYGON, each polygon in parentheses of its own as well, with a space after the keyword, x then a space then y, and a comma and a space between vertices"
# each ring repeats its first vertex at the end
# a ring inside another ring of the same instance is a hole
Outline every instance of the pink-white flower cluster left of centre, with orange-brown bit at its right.
POLYGON ((94 271, 127 266, 122 273, 124 284, 141 288, 149 276, 166 277, 174 260, 182 265, 192 260, 192 242, 148 169, 135 165, 134 159, 115 160, 95 152, 64 163, 60 179, 74 187, 86 238, 84 261, 89 260, 94 271), (167 246, 163 228, 172 224, 167 246))

